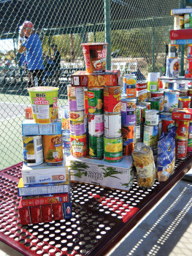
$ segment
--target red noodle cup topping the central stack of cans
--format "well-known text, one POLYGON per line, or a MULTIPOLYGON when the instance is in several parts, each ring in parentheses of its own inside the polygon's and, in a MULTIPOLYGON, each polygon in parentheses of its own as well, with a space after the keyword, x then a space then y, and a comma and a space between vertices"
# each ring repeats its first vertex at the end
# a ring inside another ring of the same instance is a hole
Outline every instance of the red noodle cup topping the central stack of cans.
POLYGON ((106 69, 107 42, 88 42, 81 45, 87 72, 104 72, 106 69))

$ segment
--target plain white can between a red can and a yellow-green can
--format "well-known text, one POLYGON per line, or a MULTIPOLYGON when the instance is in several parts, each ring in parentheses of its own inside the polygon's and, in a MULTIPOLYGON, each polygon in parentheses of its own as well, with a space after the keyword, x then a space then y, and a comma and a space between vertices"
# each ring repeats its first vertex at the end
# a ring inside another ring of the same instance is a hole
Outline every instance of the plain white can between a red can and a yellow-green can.
POLYGON ((104 136, 106 138, 121 136, 121 113, 104 112, 104 136))

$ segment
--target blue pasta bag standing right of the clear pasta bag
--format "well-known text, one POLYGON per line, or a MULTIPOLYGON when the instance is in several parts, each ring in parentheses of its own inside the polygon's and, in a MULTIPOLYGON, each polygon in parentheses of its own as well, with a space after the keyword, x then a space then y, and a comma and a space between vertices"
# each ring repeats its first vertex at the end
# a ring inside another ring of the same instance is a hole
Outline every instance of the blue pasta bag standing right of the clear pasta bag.
POLYGON ((171 127, 169 132, 161 135, 158 141, 157 172, 158 181, 166 181, 174 173, 175 161, 175 131, 176 127, 171 127))

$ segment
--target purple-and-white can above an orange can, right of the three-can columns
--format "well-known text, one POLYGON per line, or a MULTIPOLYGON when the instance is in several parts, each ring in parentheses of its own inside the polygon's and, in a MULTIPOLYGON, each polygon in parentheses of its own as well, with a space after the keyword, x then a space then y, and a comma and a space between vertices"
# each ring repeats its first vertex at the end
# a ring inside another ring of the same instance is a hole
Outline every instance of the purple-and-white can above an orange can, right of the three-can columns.
POLYGON ((121 100, 121 124, 136 124, 136 98, 128 98, 121 100))

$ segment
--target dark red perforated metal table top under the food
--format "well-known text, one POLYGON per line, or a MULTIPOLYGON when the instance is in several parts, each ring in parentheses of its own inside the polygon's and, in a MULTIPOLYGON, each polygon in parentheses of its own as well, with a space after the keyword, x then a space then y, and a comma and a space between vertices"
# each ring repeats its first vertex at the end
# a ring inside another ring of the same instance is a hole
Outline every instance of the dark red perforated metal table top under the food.
POLYGON ((23 255, 104 255, 191 169, 192 154, 176 161, 174 174, 129 192, 72 182, 73 217, 20 225, 18 180, 22 162, 1 170, 0 240, 23 255))

